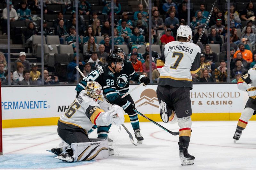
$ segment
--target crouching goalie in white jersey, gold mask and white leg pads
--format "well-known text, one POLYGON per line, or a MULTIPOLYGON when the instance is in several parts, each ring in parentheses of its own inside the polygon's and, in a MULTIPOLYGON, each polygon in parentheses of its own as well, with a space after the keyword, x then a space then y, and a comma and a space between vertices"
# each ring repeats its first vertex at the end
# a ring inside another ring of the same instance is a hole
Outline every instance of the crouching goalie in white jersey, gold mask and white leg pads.
POLYGON ((87 132, 94 125, 108 126, 123 123, 122 107, 107 103, 103 97, 101 85, 90 81, 85 90, 82 90, 71 103, 68 111, 60 117, 58 135, 67 144, 53 148, 52 152, 58 155, 55 158, 66 162, 106 159, 109 156, 108 141, 89 139, 87 132))

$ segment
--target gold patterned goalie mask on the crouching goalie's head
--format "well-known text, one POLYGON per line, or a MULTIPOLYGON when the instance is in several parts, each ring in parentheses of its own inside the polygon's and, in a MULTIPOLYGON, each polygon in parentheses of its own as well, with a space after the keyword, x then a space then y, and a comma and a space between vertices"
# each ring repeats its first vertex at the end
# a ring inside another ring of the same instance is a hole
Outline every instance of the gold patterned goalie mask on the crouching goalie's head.
POLYGON ((85 87, 87 95, 93 99, 103 101, 103 94, 101 85, 96 81, 89 81, 85 87))

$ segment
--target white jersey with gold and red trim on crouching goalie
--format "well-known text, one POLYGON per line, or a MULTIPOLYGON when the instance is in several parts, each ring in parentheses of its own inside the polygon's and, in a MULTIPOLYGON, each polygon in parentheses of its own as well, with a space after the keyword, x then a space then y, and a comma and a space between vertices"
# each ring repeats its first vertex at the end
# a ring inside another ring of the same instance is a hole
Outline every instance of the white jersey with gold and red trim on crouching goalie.
POLYGON ((93 125, 106 126, 102 121, 102 113, 107 112, 109 104, 104 101, 96 101, 86 95, 85 90, 71 103, 68 111, 60 116, 58 128, 84 130, 87 133, 93 125))

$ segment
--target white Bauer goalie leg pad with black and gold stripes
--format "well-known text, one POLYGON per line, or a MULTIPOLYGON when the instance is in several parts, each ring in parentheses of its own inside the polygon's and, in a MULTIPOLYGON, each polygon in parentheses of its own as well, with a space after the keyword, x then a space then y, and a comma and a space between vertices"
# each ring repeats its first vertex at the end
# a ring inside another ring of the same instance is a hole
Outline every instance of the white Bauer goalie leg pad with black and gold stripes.
POLYGON ((108 141, 90 139, 92 142, 72 143, 74 161, 88 161, 108 158, 108 141))

